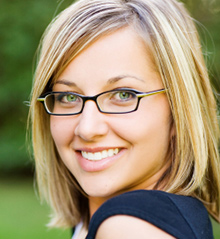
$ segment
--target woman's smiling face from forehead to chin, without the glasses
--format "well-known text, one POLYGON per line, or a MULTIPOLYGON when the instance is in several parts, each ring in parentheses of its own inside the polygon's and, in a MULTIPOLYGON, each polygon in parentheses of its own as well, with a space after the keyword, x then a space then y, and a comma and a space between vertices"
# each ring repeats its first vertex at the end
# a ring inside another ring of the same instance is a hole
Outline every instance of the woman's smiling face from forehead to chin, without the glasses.
MULTIPOLYGON (((93 96, 122 87, 143 92, 164 88, 146 46, 130 28, 85 49, 53 91, 93 96)), ((104 114, 87 101, 81 114, 51 116, 50 122, 61 159, 91 198, 152 189, 168 167, 171 111, 165 93, 142 98, 132 113, 104 114)))

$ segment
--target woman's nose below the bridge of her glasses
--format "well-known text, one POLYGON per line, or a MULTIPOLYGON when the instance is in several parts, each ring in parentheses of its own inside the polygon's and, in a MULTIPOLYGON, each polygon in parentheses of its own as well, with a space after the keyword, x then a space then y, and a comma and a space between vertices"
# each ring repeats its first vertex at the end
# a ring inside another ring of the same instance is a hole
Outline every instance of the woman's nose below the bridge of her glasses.
POLYGON ((101 113, 94 101, 85 103, 83 112, 79 115, 79 122, 75 127, 75 135, 84 141, 96 141, 108 133, 109 127, 106 115, 101 113))

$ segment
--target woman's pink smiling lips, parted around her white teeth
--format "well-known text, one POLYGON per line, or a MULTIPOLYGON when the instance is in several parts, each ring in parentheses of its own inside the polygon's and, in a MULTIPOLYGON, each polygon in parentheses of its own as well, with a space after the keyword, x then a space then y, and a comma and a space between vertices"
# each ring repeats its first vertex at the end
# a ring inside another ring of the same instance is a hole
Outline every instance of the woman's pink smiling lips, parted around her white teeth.
POLYGON ((111 167, 124 154, 124 152, 125 152, 125 148, 120 148, 120 147, 108 147, 108 148, 100 147, 100 148, 93 148, 93 149, 83 148, 83 149, 78 149, 75 151, 77 156, 76 158, 80 167, 86 172, 98 172, 111 167), (81 151, 96 153, 103 150, 116 149, 116 148, 119 148, 118 154, 113 155, 112 157, 107 157, 107 158, 98 160, 98 161, 88 160, 82 157, 82 154, 81 154, 81 151))

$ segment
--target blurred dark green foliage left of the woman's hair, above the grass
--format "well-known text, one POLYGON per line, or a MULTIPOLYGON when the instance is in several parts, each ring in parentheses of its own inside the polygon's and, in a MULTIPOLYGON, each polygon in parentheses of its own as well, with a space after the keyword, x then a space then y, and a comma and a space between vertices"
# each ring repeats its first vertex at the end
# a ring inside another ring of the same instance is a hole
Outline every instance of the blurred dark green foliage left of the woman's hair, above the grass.
POLYGON ((73 1, 1 0, 0 174, 30 168, 25 145, 34 55, 54 14, 73 1))

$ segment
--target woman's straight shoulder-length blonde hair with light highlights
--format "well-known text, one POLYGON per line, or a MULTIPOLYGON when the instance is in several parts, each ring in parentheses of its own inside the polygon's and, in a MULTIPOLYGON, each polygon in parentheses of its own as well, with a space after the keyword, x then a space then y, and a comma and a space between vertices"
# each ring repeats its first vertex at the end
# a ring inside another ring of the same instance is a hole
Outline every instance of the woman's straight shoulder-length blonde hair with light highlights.
POLYGON ((175 0, 81 0, 46 29, 33 84, 30 117, 40 194, 53 209, 52 226, 89 220, 87 197, 57 153, 49 115, 37 97, 80 52, 99 37, 132 27, 146 42, 160 72, 173 115, 172 163, 164 191, 200 199, 220 221, 219 126, 193 20, 175 0))

